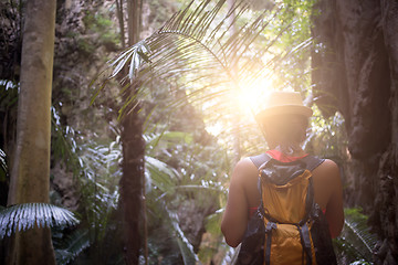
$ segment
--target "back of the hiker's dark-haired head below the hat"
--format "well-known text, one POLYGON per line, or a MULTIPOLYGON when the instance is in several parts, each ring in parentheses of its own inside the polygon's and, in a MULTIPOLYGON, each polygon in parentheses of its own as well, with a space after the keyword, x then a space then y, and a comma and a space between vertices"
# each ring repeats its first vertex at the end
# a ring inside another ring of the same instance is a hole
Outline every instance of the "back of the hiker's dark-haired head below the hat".
POLYGON ((262 128, 270 147, 285 155, 301 150, 308 119, 302 115, 277 115, 263 120, 262 128))

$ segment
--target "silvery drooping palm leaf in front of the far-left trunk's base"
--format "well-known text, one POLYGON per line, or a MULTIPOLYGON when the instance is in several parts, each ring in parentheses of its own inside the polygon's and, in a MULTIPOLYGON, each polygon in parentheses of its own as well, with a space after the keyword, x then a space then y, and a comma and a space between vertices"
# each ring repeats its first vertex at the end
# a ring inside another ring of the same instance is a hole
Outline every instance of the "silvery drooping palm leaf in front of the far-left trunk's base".
POLYGON ((0 211, 0 239, 34 227, 75 225, 78 220, 63 208, 49 203, 23 203, 0 211))

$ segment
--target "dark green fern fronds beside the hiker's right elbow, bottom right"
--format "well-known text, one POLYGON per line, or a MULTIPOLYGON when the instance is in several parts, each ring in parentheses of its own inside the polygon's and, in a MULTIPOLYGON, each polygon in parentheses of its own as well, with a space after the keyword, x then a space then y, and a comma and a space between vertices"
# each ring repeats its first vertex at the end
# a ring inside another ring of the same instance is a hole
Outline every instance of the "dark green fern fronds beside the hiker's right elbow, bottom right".
POLYGON ((377 237, 367 225, 362 209, 345 209, 342 234, 334 240, 338 259, 343 264, 371 264, 377 237))

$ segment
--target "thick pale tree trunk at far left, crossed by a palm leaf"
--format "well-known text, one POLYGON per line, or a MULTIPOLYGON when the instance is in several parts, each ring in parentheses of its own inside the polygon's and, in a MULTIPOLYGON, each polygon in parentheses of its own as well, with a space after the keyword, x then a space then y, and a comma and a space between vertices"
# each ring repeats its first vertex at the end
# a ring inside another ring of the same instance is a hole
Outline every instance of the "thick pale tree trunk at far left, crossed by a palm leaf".
MULTIPOLYGON (((49 202, 55 1, 27 1, 17 149, 8 205, 49 202)), ((9 264, 55 264, 49 229, 17 233, 9 264)))

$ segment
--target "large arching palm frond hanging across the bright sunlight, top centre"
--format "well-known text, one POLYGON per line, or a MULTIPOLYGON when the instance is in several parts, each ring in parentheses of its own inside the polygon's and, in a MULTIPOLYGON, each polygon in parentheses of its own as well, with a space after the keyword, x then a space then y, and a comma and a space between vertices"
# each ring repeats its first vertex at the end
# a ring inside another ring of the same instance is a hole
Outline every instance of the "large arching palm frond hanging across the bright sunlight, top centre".
POLYGON ((237 0, 231 9, 226 6, 226 0, 191 1, 158 31, 111 63, 112 73, 106 81, 127 67, 124 92, 130 84, 139 87, 138 93, 132 91, 122 112, 136 107, 137 99, 148 94, 153 80, 160 78, 165 83, 179 81, 191 100, 207 103, 206 108, 212 114, 231 118, 237 110, 231 98, 242 89, 242 82, 244 87, 258 85, 259 80, 270 77, 271 67, 311 43, 307 40, 289 51, 275 47, 291 22, 274 26, 276 33, 264 33, 275 15, 285 10, 283 4, 261 13, 250 10, 243 0, 237 0))

